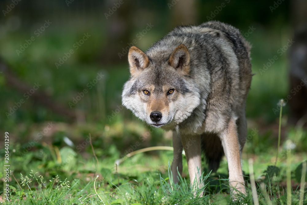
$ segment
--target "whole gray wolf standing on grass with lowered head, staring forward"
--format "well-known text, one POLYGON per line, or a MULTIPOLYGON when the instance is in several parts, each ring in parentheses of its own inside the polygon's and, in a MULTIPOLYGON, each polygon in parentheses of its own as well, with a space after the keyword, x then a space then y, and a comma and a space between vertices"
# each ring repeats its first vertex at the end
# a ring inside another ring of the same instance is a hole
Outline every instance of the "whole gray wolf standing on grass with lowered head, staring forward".
MULTIPOLYGON (((250 45, 233 26, 179 26, 146 53, 132 46, 122 104, 147 124, 173 131, 173 180, 185 149, 190 181, 200 179, 201 150, 215 171, 225 153, 231 193, 246 193, 241 152, 251 85, 250 45)), ((178 170, 178 171, 177 171, 178 170)))

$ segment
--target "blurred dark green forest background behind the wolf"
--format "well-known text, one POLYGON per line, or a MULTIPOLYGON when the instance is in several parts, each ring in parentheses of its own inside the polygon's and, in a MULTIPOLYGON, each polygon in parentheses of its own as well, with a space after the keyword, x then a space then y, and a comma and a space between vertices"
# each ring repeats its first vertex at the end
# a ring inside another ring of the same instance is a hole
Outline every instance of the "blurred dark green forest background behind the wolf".
MULTIPOLYGON (((0 136, 10 133, 11 157, 19 163, 11 167, 16 173, 32 163, 50 175, 72 174, 80 159, 92 159, 91 146, 82 145, 89 133, 96 156, 107 160, 110 169, 130 148, 171 146, 170 133, 148 127, 121 106, 122 86, 129 78, 127 51, 132 45, 146 51, 175 26, 208 20, 239 28, 252 45, 255 75, 246 109, 252 138, 244 153, 271 153, 255 175, 272 164, 276 153, 280 99, 288 101, 282 143, 292 137, 301 153, 297 163, 306 160, 306 130, 299 139, 290 135, 307 109, 306 85, 297 87, 307 75, 304 0, 1 0, 0 9, 0 136), (78 160, 55 169, 57 150, 62 160, 66 152, 78 153, 78 160)), ((299 122, 302 127, 305 121, 299 122)), ((1 148, 3 144, 0 140, 1 148)), ((150 155, 157 158, 159 153, 150 155)), ((165 159, 155 168, 165 171, 172 152, 165 159)), ((149 171, 148 163, 139 172, 149 171)))

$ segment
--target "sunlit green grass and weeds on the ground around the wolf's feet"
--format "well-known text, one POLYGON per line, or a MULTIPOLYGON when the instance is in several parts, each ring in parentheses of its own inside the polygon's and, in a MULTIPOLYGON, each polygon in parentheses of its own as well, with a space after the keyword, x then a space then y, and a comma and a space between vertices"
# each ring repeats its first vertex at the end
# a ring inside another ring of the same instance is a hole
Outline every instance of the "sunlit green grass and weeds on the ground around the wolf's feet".
MULTIPOLYGON (((56 128, 58 128, 57 126, 59 124, 55 125, 56 128)), ((100 134, 107 136, 108 132, 117 129, 116 126, 116 124, 110 125, 110 128, 104 129, 100 134)), ((88 127, 72 128, 69 125, 64 126, 62 131, 54 134, 62 140, 54 139, 54 141, 63 142, 64 130, 71 129, 78 129, 76 133, 82 133, 86 132, 88 127)), ((135 126, 134 129, 136 135, 140 136, 146 136, 149 131, 148 127, 144 125, 135 126)), ((295 131, 290 134, 296 134, 295 131)), ((159 134, 158 130, 155 130, 150 136, 155 134, 159 134)), ((190 188, 185 157, 183 157, 184 177, 180 179, 179 185, 172 187, 168 183, 168 163, 172 160, 172 151, 154 151, 151 154, 139 153, 127 158, 116 167, 115 161, 123 153, 114 145, 118 144, 116 139, 111 137, 107 144, 106 142, 99 144, 97 143, 95 129, 91 132, 91 135, 98 163, 86 137, 83 141, 75 143, 73 147, 67 144, 62 144, 59 147, 39 142, 26 154, 18 152, 18 150, 23 150, 23 146, 26 144, 10 144, 10 147, 15 149, 15 152, 10 149, 10 169, 14 170, 13 174, 16 178, 15 180, 13 175, 10 174, 10 199, 12 200, 10 204, 237 204, 229 195, 225 158, 217 173, 210 175, 206 169, 207 165, 203 164, 204 175, 206 175, 204 176, 205 195, 194 197, 190 188), (83 148, 79 152, 79 148, 76 148, 76 146, 82 144, 83 148), (21 177, 21 174, 23 177, 21 177), (39 175, 42 175, 44 179, 41 180, 39 175), (99 177, 96 179, 97 175, 99 177), (26 181, 22 178, 26 176, 29 177, 31 183, 22 186, 22 182, 26 181), (63 182, 66 182, 66 184, 63 184, 63 182)), ((167 137, 168 134, 162 133, 162 135, 167 137)), ((289 135, 289 138, 291 137, 293 136, 289 135)), ((125 140, 123 136, 122 140, 125 140)), ((146 143, 151 144, 153 143, 152 140, 154 139, 150 139, 146 143)), ((302 140, 306 140, 306 135, 302 136, 302 140)), ((170 144, 169 140, 162 141, 165 144, 170 144)), ((278 167, 275 167, 276 150, 270 148, 266 152, 256 154, 255 152, 258 151, 251 147, 252 144, 252 140, 248 141, 246 147, 250 150, 248 152, 243 151, 243 171, 246 175, 247 196, 238 200, 247 204, 251 204, 253 201, 248 177, 249 171, 245 165, 247 165, 247 159, 254 158, 253 166, 259 203, 268 204, 264 192, 260 188, 260 183, 264 183, 266 193, 270 196, 273 204, 282 204, 281 201, 286 204, 287 165, 286 155, 284 154, 286 148, 281 146, 278 167)), ((126 149, 129 150, 129 147, 126 149)), ((307 159, 307 155, 296 148, 291 152, 291 200, 292 204, 298 204, 301 162, 307 159)), ((4 156, 4 150, 1 150, 1 156, 4 156)), ((0 166, 3 167, 3 164, 3 159, 1 159, 0 166)), ((2 180, 0 185, 1 187, 4 185, 2 180)), ((304 204, 306 203, 307 189, 305 188, 304 204)))

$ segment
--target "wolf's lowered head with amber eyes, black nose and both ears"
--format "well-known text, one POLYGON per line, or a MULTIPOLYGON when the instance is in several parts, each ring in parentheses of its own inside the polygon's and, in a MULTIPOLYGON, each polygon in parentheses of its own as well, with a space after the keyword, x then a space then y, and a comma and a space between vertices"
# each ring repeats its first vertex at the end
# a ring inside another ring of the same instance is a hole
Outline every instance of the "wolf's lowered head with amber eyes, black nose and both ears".
POLYGON ((186 46, 167 52, 146 55, 135 46, 130 48, 131 77, 124 85, 122 104, 147 124, 172 128, 191 115, 200 104, 200 94, 189 77, 186 46))

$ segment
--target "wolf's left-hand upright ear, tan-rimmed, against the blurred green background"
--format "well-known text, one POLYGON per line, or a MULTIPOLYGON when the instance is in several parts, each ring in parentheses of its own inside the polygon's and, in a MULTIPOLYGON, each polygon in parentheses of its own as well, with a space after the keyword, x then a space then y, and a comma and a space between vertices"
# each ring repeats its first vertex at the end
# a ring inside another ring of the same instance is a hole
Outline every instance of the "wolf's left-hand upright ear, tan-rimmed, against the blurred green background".
POLYGON ((149 65, 146 54, 135 46, 129 49, 128 61, 132 76, 137 76, 149 65))

